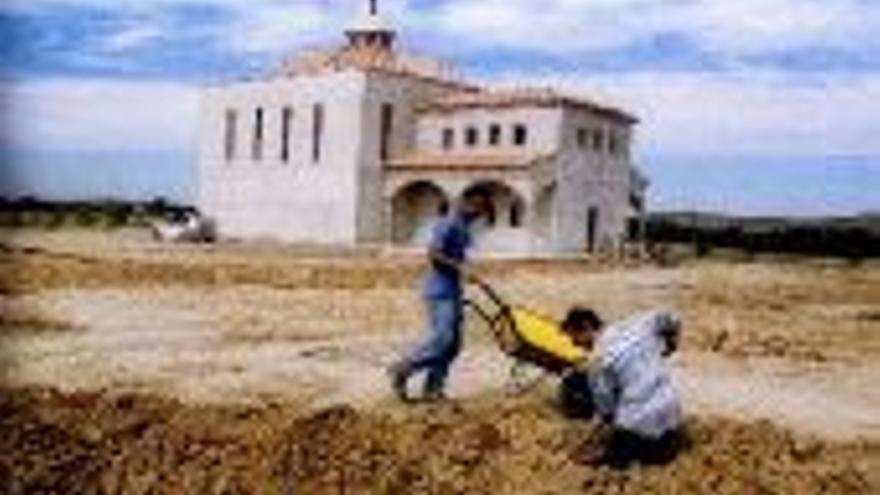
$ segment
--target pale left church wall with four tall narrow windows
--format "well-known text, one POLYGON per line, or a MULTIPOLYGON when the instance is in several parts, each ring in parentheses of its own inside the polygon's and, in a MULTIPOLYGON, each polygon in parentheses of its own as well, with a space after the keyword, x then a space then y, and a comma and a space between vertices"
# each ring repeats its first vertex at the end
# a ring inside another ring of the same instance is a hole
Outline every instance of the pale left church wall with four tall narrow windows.
POLYGON ((245 82, 206 91, 202 102, 198 203, 228 237, 353 243, 365 77, 344 72, 245 82), (320 160, 313 160, 313 105, 323 105, 320 160), (282 109, 293 111, 289 159, 282 109), (256 108, 263 109, 262 157, 252 154, 256 108), (237 112, 235 157, 224 150, 225 113, 237 112))

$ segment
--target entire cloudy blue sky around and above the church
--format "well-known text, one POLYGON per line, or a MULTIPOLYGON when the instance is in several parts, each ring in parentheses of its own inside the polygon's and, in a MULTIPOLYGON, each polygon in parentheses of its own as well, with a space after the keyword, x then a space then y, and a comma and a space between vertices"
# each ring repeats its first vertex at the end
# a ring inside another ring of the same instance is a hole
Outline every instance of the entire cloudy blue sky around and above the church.
MULTIPOLYGON (((337 43, 365 3, 6 0, 0 193, 188 199, 199 88, 337 43)), ((380 3, 464 75, 638 114, 654 208, 880 210, 880 1, 380 3)))

